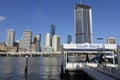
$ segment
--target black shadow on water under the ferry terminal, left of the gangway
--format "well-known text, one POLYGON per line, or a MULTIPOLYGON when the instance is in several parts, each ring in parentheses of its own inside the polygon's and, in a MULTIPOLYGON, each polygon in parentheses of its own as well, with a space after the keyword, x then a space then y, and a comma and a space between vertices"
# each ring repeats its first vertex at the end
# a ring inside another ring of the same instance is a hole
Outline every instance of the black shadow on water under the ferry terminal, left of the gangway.
POLYGON ((61 80, 94 80, 87 73, 85 73, 80 66, 77 66, 76 70, 68 71, 63 68, 63 64, 61 64, 61 80))

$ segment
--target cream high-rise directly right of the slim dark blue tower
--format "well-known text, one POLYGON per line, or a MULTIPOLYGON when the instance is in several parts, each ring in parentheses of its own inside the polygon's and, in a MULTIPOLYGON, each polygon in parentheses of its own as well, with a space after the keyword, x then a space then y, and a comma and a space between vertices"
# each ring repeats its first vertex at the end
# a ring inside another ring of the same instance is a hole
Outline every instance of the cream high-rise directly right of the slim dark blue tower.
POLYGON ((52 43, 53 51, 54 52, 60 51, 60 37, 58 35, 54 35, 52 41, 53 41, 52 43))

